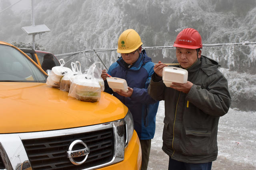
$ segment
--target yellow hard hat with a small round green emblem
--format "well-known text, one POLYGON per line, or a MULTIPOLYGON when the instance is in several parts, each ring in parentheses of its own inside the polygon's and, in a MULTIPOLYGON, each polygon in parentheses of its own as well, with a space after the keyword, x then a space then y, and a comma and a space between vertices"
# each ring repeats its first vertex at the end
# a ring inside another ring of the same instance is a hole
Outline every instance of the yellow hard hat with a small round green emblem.
POLYGON ((126 29, 118 38, 118 53, 131 53, 138 49, 143 43, 140 35, 134 29, 126 29))

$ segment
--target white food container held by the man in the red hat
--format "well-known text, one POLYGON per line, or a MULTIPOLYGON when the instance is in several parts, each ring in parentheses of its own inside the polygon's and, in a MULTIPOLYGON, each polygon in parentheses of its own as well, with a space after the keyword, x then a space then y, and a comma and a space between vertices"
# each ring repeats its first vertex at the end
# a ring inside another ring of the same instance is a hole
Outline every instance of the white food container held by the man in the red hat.
POLYGON ((172 86, 172 82, 184 84, 188 81, 188 71, 178 67, 164 67, 163 81, 166 87, 172 86))

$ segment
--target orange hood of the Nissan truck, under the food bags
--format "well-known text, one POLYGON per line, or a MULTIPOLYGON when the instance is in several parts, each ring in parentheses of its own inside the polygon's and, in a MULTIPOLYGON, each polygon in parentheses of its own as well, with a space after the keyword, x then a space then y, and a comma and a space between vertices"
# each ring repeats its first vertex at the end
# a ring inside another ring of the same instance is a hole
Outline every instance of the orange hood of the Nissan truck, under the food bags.
POLYGON ((128 108, 101 92, 98 102, 81 102, 45 83, 0 82, 0 133, 83 127, 125 117, 128 108))

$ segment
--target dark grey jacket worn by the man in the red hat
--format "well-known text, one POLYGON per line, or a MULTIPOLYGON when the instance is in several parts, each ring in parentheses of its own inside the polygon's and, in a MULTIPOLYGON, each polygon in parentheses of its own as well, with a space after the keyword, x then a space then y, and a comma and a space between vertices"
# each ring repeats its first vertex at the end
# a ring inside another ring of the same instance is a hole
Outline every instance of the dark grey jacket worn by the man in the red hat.
POLYGON ((166 87, 154 73, 148 93, 165 101, 163 147, 174 160, 204 163, 216 160, 219 117, 225 115, 231 98, 228 82, 218 63, 201 56, 187 68, 192 88, 185 94, 166 87))

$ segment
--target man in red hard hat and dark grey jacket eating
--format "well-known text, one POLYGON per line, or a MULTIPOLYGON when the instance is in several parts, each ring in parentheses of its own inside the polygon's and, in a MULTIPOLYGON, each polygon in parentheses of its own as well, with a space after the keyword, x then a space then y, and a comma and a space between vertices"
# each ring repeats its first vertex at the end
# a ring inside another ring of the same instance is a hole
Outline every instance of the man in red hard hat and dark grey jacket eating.
POLYGON ((174 42, 180 68, 188 71, 187 83, 162 80, 166 64, 154 66, 148 93, 165 101, 162 149, 169 158, 169 170, 210 170, 218 154, 220 116, 230 107, 228 82, 218 63, 201 55, 202 38, 196 29, 183 29, 174 42))

